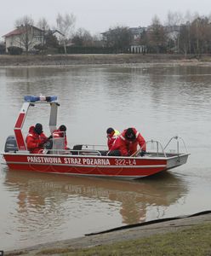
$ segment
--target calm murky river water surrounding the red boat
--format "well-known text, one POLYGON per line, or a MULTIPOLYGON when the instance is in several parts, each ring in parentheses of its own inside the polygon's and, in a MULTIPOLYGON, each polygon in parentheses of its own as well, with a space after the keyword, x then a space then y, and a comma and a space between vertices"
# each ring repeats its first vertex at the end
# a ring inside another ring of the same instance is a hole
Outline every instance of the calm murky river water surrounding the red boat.
MULTIPOLYGON (((13 134, 25 95, 56 95, 68 143, 106 144, 109 126, 134 126, 145 140, 179 135, 191 153, 185 166, 139 181, 15 172, 1 165, 0 249, 211 209, 211 67, 1 67, 0 149, 13 134)), ((31 110, 29 125, 48 111, 31 110)))

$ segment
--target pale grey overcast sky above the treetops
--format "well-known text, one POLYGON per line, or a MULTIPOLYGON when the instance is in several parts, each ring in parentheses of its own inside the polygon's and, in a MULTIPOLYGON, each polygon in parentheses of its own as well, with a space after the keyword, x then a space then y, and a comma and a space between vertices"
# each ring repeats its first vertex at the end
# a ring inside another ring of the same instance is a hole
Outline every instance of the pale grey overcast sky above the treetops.
POLYGON ((0 10, 0 37, 12 31, 15 20, 25 15, 30 16, 35 25, 44 17, 52 27, 58 13, 73 14, 76 29, 83 27, 94 34, 117 25, 148 26, 155 15, 164 22, 168 11, 208 16, 211 0, 9 0, 0 10))

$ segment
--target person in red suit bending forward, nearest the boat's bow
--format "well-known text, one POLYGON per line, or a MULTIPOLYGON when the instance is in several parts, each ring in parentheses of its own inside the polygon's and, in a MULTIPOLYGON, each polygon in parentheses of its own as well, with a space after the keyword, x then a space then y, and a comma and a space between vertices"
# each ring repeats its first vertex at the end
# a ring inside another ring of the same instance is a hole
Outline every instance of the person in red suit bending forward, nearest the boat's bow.
POLYGON ((112 145, 108 155, 130 156, 137 151, 137 146, 140 145, 141 156, 145 154, 145 139, 140 135, 140 132, 135 128, 125 129, 117 140, 112 145))

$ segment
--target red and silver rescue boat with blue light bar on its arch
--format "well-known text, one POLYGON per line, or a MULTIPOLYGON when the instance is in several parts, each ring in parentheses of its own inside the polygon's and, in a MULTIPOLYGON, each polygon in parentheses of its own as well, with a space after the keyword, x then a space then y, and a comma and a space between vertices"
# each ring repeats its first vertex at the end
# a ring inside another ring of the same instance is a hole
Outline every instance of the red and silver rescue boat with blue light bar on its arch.
POLYGON ((66 150, 64 138, 51 138, 41 154, 30 154, 26 148, 26 138, 22 132, 28 109, 38 105, 49 105, 49 130, 57 129, 57 113, 60 106, 57 96, 25 96, 22 108, 14 125, 14 135, 5 143, 3 159, 9 169, 26 172, 47 172, 88 177, 113 177, 137 179, 158 172, 167 171, 186 163, 189 153, 181 137, 170 138, 163 147, 156 140, 146 142, 147 151, 141 148, 132 156, 108 156, 106 146, 74 145, 66 150), (170 148, 170 145, 173 148, 170 148), (180 152, 183 148, 183 153, 180 152))

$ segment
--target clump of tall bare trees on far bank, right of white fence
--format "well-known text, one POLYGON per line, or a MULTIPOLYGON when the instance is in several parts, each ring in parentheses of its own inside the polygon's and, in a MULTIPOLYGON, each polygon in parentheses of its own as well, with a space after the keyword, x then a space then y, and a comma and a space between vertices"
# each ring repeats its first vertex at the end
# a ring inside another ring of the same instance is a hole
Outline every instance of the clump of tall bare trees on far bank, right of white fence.
POLYGON ((202 55, 211 53, 211 17, 168 13, 163 25, 155 16, 151 26, 140 38, 148 50, 157 53, 202 55))

